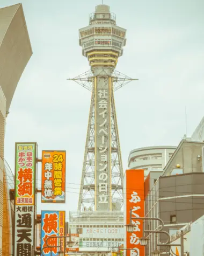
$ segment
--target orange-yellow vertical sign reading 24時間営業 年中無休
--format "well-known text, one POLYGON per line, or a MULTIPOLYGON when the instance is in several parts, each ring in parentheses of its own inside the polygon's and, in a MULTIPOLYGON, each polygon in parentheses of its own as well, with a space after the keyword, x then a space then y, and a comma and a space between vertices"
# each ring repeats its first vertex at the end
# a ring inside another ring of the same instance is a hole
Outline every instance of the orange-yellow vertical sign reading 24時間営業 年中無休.
POLYGON ((42 151, 42 203, 65 203, 65 151, 42 151))

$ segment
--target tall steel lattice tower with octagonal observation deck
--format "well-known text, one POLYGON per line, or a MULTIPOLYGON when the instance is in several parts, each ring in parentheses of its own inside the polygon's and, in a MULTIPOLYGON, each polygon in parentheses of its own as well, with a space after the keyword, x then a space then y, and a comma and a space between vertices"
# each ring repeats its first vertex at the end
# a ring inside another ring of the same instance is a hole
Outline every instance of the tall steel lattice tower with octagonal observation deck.
POLYGON ((72 79, 92 92, 78 210, 120 210, 123 170, 114 91, 133 80, 116 72, 126 30, 116 26, 107 5, 96 6, 89 26, 79 30, 79 45, 91 70, 72 79))

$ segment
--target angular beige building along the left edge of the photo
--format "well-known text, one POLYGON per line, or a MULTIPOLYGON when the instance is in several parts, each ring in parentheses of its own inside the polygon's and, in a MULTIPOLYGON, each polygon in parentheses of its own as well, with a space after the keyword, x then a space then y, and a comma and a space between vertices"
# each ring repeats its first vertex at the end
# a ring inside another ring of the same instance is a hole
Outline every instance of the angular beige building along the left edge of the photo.
POLYGON ((0 256, 12 254, 11 212, 4 166, 5 118, 18 81, 31 56, 22 5, 0 9, 0 256))

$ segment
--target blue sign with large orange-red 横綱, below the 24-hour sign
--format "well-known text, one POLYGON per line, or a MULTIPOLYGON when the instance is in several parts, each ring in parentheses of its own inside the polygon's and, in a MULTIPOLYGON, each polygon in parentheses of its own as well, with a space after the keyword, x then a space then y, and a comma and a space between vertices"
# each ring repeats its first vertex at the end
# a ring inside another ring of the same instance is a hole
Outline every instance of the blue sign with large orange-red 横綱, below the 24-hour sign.
MULTIPOLYGON (((58 236, 64 236, 65 233, 65 211, 41 211, 41 250, 47 246, 46 240, 50 238, 47 243, 49 246, 60 246, 64 251, 64 239, 60 241, 58 236)), ((53 247, 52 252, 50 248, 43 249, 43 254, 46 256, 58 256, 60 248, 53 247)), ((42 254, 41 254, 42 255, 42 254)))

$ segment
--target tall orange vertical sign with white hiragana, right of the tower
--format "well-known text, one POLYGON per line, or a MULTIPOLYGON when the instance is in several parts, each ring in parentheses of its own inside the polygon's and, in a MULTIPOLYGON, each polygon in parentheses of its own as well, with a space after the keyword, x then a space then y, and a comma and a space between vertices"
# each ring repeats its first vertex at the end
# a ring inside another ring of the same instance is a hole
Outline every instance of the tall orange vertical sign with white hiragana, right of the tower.
MULTIPOLYGON (((124 178, 124 223, 129 224, 130 208, 132 217, 144 217, 144 171, 126 170, 124 178)), ((126 256, 144 256, 144 246, 140 245, 139 238, 143 237, 143 221, 132 220, 134 231, 126 231, 126 256)))

